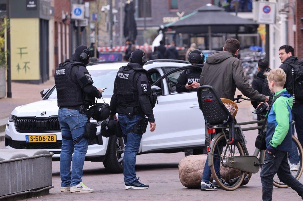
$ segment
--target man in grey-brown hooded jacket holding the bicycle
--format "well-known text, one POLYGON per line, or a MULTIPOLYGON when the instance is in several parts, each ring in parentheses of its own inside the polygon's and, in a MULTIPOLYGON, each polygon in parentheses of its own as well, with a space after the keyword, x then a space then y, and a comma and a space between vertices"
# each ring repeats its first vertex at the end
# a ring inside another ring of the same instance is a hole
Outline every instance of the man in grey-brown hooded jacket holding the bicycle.
MULTIPOLYGON (((242 63, 236 58, 239 49, 240 42, 237 39, 228 39, 225 41, 223 51, 208 55, 200 76, 200 85, 211 85, 215 88, 220 98, 233 100, 236 88, 238 88, 248 98, 259 102, 267 101, 268 97, 259 94, 255 89, 251 88, 245 79, 242 63)), ((205 133, 205 146, 207 145, 209 145, 209 134, 205 133)), ((215 169, 220 168, 220 164, 218 165, 215 169)), ((209 181, 210 177, 210 167, 208 163, 205 163, 201 179, 201 190, 218 189, 215 187, 216 184, 212 184, 209 181)), ((222 178, 220 181, 224 185, 228 185, 222 178)))

